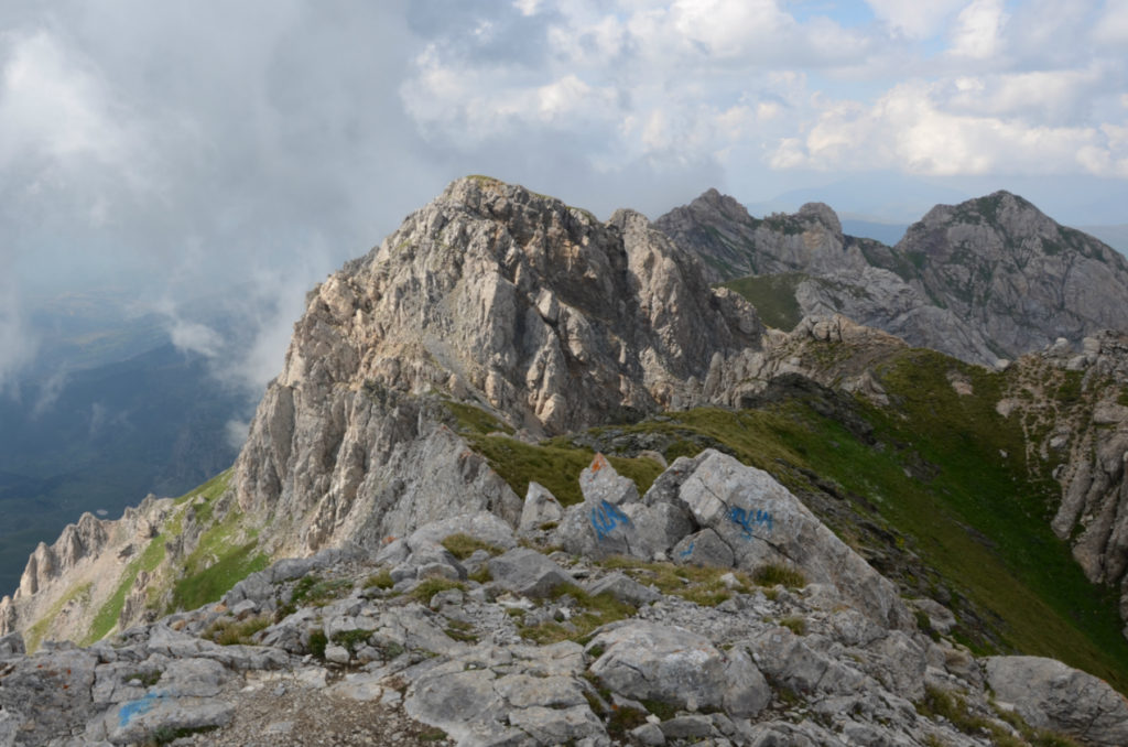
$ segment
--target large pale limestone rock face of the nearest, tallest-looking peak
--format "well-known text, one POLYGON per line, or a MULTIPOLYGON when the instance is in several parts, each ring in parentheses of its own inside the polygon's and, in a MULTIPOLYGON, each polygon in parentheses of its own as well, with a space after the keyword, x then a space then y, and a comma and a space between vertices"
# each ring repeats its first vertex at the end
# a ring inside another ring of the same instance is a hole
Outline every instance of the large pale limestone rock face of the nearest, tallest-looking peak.
POLYGON ((291 552, 371 544, 444 511, 515 525, 520 498, 425 395, 556 433, 699 401, 714 354, 758 346, 760 331, 643 216, 600 223, 461 179, 310 293, 236 465, 238 500, 279 517, 291 552))

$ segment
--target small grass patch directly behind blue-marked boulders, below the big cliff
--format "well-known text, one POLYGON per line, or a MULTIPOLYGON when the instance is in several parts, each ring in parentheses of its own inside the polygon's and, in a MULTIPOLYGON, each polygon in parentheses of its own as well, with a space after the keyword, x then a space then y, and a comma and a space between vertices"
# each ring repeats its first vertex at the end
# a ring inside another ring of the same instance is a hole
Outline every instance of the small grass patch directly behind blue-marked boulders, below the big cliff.
MULTIPOLYGON (((596 456, 591 449, 569 446, 565 439, 540 445, 501 436, 470 434, 467 439, 518 495, 528 493, 530 482, 538 482, 562 506, 583 501, 579 477, 596 456)), ((608 462, 620 475, 633 480, 640 493, 646 492, 662 472, 653 459, 613 456, 608 462)))

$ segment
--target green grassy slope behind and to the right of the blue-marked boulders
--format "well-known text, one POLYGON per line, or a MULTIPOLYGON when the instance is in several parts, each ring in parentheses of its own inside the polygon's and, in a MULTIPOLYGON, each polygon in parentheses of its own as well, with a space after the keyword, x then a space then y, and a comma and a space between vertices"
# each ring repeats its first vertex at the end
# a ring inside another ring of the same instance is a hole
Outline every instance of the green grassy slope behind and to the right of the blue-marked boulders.
MULTIPOLYGON (((687 436, 712 441, 796 491, 819 490, 816 482, 836 484, 860 519, 875 510, 874 518, 901 535, 957 598, 975 605, 976 617, 993 629, 989 638, 1002 642, 1001 652, 1061 659, 1128 691, 1128 642, 1120 633, 1117 596, 1090 583, 1049 529, 1057 486, 1038 477, 1038 465, 1025 464, 1017 416, 995 412, 1005 375, 906 351, 881 377, 895 405, 853 405, 873 427, 872 439, 817 414, 802 399, 763 410, 668 413, 615 430, 620 440, 664 437, 671 459, 696 450, 687 436), (950 370, 967 377, 973 394, 957 394, 950 370)), ((518 493, 536 480, 561 491, 565 502, 578 500, 575 475, 590 450, 571 448, 565 439, 541 446, 501 437, 472 440, 518 493)), ((635 476, 637 462, 616 467, 635 476)), ((635 478, 645 490, 653 475, 646 471, 635 478)), ((841 534, 856 541, 848 530, 841 534)), ((958 605, 955 612, 961 613, 958 605)), ((971 639, 964 640, 978 643, 980 653, 990 651, 982 639, 971 639)))

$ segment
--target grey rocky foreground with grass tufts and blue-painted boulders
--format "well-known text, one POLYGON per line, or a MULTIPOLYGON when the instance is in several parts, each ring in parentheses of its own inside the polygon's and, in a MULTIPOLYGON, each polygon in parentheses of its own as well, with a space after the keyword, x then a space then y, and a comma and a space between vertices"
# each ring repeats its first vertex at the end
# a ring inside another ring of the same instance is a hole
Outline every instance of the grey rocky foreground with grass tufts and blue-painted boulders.
POLYGON ((0 745, 1123 745, 1128 702, 977 659, 766 473, 488 512, 275 563, 80 649, 0 639, 0 745))

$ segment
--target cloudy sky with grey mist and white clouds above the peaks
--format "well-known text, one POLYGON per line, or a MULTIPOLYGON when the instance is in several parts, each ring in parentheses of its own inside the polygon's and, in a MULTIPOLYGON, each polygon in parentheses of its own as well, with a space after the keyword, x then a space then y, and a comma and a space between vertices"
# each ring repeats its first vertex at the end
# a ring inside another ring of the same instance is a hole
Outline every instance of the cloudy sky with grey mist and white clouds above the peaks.
POLYGON ((1128 223, 1126 50, 1128 0, 5 0, 0 390, 30 304, 114 287, 261 392, 306 291, 466 174, 1128 223))

